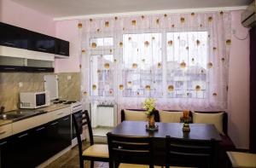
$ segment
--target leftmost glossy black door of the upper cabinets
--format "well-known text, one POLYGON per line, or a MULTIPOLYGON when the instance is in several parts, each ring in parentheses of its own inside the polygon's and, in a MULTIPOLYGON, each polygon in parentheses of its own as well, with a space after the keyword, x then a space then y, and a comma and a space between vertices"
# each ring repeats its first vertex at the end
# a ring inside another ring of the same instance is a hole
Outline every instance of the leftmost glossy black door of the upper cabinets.
POLYGON ((0 45, 27 49, 28 30, 0 22, 0 45))

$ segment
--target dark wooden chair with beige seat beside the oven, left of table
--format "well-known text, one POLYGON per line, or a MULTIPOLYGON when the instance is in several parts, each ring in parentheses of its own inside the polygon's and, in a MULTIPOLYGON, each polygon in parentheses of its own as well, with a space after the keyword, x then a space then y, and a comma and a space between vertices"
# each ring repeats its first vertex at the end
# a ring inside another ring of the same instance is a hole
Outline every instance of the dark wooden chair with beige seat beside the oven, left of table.
POLYGON ((79 144, 79 164, 80 168, 84 168, 84 160, 90 160, 90 167, 94 166, 94 161, 108 162, 108 145, 94 144, 93 134, 90 125, 90 117, 87 110, 83 113, 73 113, 73 123, 76 130, 76 136, 79 144), (84 151, 82 149, 81 133, 83 126, 87 125, 90 136, 90 147, 84 151))

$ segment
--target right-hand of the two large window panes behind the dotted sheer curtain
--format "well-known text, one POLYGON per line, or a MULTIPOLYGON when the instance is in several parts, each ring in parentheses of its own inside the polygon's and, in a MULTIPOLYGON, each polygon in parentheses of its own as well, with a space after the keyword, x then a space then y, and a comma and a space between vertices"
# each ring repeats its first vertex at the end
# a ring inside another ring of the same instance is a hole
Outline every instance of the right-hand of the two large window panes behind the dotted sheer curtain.
POLYGON ((208 32, 167 32, 168 97, 206 98, 208 32))

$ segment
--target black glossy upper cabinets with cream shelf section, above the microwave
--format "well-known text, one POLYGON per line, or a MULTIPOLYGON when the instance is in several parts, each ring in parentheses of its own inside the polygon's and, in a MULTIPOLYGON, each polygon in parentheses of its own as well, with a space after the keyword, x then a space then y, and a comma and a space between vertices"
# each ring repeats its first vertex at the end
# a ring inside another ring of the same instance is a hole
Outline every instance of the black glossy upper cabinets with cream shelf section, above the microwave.
POLYGON ((0 72, 54 72, 69 42, 0 22, 0 72))

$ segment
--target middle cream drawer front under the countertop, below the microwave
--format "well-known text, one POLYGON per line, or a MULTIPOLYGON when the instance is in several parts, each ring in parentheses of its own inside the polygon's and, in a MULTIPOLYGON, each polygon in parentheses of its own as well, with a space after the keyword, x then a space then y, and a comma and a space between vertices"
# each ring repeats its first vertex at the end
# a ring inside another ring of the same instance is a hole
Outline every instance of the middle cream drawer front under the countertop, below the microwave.
POLYGON ((22 119, 13 123, 13 134, 20 133, 24 130, 29 130, 39 125, 44 125, 48 122, 46 113, 34 116, 29 119, 22 119))

